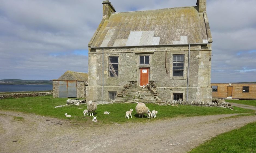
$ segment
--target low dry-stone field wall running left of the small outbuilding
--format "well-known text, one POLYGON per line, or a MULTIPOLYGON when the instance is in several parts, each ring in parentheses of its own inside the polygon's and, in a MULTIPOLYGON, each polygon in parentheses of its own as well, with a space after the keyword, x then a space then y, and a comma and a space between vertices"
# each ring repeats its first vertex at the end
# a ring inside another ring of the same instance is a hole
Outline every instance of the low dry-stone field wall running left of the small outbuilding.
POLYGON ((0 99, 4 98, 20 98, 20 97, 36 97, 36 96, 45 96, 52 95, 53 92, 38 92, 38 93, 11 93, 11 94, 0 94, 0 99))

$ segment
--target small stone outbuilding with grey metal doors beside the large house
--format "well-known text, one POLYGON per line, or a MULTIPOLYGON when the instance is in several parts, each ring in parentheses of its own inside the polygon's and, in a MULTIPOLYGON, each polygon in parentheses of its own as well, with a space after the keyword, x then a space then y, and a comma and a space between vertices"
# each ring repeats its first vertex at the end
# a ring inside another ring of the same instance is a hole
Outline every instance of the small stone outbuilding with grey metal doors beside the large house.
POLYGON ((66 71, 59 79, 53 80, 53 97, 84 98, 87 85, 87 73, 66 71))

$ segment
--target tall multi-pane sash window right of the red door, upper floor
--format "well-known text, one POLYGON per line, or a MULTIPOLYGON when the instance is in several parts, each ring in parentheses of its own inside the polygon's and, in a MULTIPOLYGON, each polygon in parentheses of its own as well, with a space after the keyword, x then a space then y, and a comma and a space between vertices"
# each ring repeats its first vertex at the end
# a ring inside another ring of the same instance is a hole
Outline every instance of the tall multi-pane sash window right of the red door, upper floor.
POLYGON ((172 76, 184 77, 184 55, 173 55, 172 76))

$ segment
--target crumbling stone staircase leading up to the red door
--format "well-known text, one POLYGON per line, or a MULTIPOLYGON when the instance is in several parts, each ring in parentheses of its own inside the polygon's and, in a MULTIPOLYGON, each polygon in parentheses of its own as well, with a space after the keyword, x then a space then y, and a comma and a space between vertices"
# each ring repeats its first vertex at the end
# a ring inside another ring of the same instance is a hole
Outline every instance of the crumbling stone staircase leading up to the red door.
POLYGON ((147 88, 135 88, 128 89, 124 95, 117 95, 115 97, 116 103, 161 103, 162 101, 158 97, 151 94, 147 88))

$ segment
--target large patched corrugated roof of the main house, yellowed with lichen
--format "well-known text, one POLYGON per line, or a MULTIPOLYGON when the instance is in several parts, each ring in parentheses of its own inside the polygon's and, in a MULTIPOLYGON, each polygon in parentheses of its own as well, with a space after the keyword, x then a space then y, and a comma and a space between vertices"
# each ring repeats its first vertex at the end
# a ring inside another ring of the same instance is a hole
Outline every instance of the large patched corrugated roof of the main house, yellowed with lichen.
POLYGON ((208 43, 207 24, 198 6, 112 13, 89 47, 208 43))

